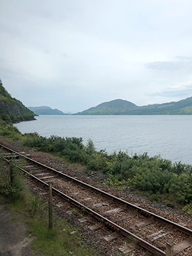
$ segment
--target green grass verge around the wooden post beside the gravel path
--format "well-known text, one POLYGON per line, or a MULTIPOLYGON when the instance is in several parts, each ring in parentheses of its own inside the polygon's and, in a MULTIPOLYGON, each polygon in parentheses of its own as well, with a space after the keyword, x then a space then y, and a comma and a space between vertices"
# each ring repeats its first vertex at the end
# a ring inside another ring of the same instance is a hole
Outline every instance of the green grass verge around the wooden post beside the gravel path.
MULTIPOLYGON (((0 188, 7 184, 6 163, 0 164, 0 188), (6 175, 5 173, 6 172, 6 175)), ((9 175, 7 176, 9 179, 9 175)), ((11 215, 11 221, 26 223, 26 236, 34 237, 32 249, 36 255, 41 256, 98 256, 91 247, 83 243, 81 235, 71 227, 66 219, 60 219, 54 213, 53 229, 48 228, 48 204, 43 203, 40 195, 32 195, 24 187, 22 191, 11 193, 7 197, 1 195, 0 203, 7 203, 7 209, 11 215), (72 231, 75 233, 71 234, 72 231)))

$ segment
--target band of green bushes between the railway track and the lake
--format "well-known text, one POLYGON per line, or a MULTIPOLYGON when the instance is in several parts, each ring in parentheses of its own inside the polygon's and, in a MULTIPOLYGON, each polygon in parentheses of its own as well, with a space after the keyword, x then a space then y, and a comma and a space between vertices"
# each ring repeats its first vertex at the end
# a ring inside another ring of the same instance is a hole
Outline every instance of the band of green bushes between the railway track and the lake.
POLYGON ((68 160, 87 166, 91 171, 108 174, 107 184, 146 192, 151 199, 183 205, 187 213, 192 213, 192 166, 181 162, 172 163, 161 156, 150 157, 128 152, 107 154, 97 151, 91 139, 83 144, 82 138, 42 137, 36 132, 21 134, 13 124, 0 124, 0 136, 21 140, 24 146, 50 152, 68 160))

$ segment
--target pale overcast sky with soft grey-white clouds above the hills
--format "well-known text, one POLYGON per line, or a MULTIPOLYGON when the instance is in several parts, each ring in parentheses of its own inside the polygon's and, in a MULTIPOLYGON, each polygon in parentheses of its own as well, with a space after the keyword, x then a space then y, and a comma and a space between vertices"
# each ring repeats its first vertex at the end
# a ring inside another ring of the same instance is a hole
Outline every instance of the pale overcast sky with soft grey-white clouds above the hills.
POLYGON ((1 0, 3 86, 64 112, 190 97, 191 10, 191 0, 1 0))

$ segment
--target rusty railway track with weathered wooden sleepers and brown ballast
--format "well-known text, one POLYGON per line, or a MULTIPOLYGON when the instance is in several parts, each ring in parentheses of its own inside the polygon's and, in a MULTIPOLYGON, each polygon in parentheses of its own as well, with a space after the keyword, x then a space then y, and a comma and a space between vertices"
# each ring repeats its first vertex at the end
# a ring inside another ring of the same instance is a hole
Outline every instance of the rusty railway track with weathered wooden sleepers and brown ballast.
MULTIPOLYGON (((97 233, 103 233, 105 225, 111 229, 109 235, 104 235, 106 241, 113 241, 120 237, 128 237, 134 246, 141 246, 154 255, 168 255, 166 253, 166 242, 174 244, 172 255, 190 255, 189 249, 192 247, 192 231, 184 227, 181 223, 174 223, 158 216, 139 205, 134 205, 115 197, 107 192, 94 188, 72 178, 53 168, 40 164, 19 152, 15 152, 3 145, 3 158, 6 161, 15 158, 20 162, 25 158, 25 164, 20 169, 31 178, 38 181, 43 186, 48 186, 52 182, 53 192, 83 209, 85 217, 79 219, 81 223, 86 223, 89 216, 94 218, 97 223, 89 225, 89 229, 97 233), (87 217, 88 216, 88 217, 87 217), (114 235, 115 234, 115 235, 114 235)), ((62 204, 58 205, 62 207, 62 204)), ((69 214, 72 211, 68 212, 69 214)), ((134 246, 124 245, 120 250, 124 253, 134 250, 134 246)), ((171 255, 171 254, 170 254, 171 255)), ((191 254, 192 255, 192 254, 191 254)))

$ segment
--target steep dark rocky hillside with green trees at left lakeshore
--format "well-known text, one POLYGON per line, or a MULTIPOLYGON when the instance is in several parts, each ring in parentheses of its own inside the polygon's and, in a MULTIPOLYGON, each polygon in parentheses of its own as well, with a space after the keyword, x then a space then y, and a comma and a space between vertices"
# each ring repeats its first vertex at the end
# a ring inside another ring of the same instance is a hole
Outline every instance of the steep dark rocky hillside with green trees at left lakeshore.
POLYGON ((0 118, 6 122, 34 120, 34 113, 5 90, 0 79, 0 118))

